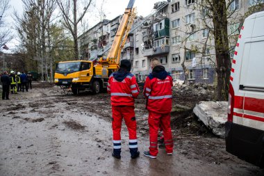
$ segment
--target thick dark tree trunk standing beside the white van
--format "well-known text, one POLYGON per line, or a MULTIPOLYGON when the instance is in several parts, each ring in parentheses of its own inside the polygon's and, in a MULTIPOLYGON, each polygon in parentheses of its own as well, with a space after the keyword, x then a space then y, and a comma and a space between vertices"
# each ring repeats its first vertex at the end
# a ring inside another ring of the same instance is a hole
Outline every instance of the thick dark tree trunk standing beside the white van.
POLYGON ((215 36, 215 56, 217 72, 217 99, 225 101, 229 95, 231 60, 227 34, 226 1, 213 0, 213 26, 215 36))

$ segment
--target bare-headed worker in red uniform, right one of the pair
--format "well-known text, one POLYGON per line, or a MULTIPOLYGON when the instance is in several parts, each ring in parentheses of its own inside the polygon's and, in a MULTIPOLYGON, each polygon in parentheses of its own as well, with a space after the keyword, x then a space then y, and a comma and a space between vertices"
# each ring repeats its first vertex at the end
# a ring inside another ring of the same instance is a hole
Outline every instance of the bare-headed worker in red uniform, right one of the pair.
MULTIPOLYGON (((151 60, 151 64, 159 63, 158 59, 151 60)), ((149 111, 149 151, 144 155, 156 158, 158 155, 158 129, 163 129, 165 150, 172 155, 173 141, 170 127, 170 113, 172 111, 172 77, 162 65, 153 68, 145 81, 143 94, 147 98, 149 111)))

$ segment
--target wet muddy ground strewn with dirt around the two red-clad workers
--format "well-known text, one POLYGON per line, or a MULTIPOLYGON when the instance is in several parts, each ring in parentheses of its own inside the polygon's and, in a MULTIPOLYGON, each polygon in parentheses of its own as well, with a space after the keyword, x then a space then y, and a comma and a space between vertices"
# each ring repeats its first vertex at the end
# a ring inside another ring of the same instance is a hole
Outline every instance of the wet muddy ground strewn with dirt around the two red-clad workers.
MULTIPOLYGON (((210 86, 174 88, 174 105, 191 109, 213 99, 210 86)), ((145 99, 135 100, 140 158, 131 159, 128 132, 122 129, 122 159, 113 159, 110 97, 74 96, 48 83, 0 103, 0 175, 264 175, 264 171, 225 151, 224 139, 211 134, 192 110, 174 107, 174 154, 148 149, 145 99)))

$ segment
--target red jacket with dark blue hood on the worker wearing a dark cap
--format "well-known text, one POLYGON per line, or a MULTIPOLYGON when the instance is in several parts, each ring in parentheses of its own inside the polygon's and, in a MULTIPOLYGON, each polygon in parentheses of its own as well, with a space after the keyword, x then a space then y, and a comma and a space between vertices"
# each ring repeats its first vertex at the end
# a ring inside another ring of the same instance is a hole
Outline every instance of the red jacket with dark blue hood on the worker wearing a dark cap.
POLYGON ((134 106, 134 98, 138 97, 140 90, 135 76, 119 69, 110 75, 107 92, 111 95, 112 106, 134 106))

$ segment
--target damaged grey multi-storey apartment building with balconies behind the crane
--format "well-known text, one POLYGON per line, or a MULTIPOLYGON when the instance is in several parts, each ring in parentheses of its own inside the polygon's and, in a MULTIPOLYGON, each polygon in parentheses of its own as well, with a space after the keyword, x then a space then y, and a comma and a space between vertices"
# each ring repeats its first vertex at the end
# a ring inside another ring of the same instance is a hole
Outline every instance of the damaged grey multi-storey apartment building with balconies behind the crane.
MULTIPOLYGON (((160 1, 147 17, 137 17, 122 49, 121 59, 129 59, 131 72, 145 81, 151 72, 151 58, 158 58, 174 80, 193 83, 215 81, 215 47, 210 11, 197 0, 160 1)), ((263 3, 263 1, 258 1, 263 3)), ((254 0, 234 0, 229 6, 228 33, 231 58, 243 17, 254 0)), ((96 60, 107 56, 122 15, 89 29, 79 37, 81 58, 96 60)))

